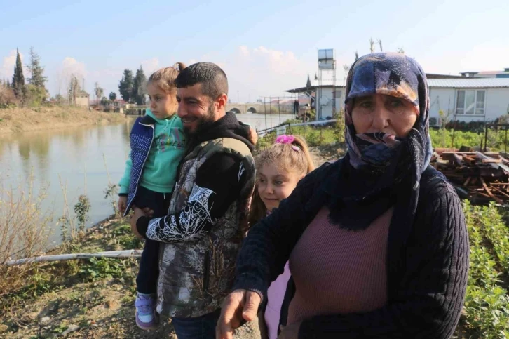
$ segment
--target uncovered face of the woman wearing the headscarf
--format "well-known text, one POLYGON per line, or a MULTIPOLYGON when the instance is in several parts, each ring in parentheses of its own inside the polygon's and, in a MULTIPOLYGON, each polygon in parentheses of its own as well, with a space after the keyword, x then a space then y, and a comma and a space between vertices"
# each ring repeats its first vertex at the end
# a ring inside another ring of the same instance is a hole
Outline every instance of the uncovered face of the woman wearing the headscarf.
POLYGON ((402 98, 374 94, 355 98, 352 121, 356 133, 384 132, 405 138, 419 115, 419 107, 402 98))

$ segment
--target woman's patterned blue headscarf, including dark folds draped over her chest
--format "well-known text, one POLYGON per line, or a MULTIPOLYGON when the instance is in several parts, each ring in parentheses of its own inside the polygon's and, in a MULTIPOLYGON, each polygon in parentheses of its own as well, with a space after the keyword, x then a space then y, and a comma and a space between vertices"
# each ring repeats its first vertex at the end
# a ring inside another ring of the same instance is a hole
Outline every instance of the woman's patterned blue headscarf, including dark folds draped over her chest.
MULTIPOLYGON (((352 65, 346 80, 345 135, 349 162, 329 182, 330 218, 343 227, 362 229, 395 201, 412 222, 419 197, 421 174, 432 149, 428 133, 429 96, 426 74, 412 58, 400 53, 372 53, 352 65), (385 94, 408 100, 418 117, 405 138, 386 133, 356 133, 352 121, 353 101, 385 94), (391 197, 391 198, 389 198, 391 197)), ((343 166, 345 166, 344 164, 343 166)))

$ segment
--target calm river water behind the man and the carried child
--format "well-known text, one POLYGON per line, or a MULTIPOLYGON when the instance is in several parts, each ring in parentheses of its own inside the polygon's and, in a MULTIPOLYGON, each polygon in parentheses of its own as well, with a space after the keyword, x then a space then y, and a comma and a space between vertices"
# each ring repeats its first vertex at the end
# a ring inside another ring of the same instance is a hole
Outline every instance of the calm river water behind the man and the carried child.
MULTIPOLYGON (((238 119, 257 129, 276 126, 292 115, 238 114, 238 119)), ((34 194, 46 190, 42 208, 53 213, 53 225, 63 214, 65 200, 72 211, 81 194, 90 199, 87 226, 113 213, 104 199, 109 182, 118 183, 129 153, 129 132, 133 119, 107 126, 81 126, 65 130, 0 135, 0 192, 19 194, 33 183, 34 194), (30 180, 30 178, 33 180, 30 180), (66 194, 63 194, 62 187, 66 194)), ((1 199, 1 196, 0 196, 1 199)), ((115 197, 116 199, 116 197, 115 197)), ((0 206, 1 207, 1 206, 0 206)), ((52 240, 58 243, 55 226, 52 240)))

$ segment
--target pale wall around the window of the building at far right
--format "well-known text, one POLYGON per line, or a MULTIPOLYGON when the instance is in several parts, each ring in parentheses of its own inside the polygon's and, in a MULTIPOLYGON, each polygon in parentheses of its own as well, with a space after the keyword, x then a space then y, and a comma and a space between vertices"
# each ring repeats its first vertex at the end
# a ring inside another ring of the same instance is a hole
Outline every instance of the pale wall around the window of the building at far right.
MULTIPOLYGON (((442 109, 451 114, 449 119, 454 119, 456 109, 456 92, 458 88, 430 88, 430 118, 436 118, 438 124, 438 111, 442 109)), ((484 116, 479 115, 457 115, 459 121, 493 121, 503 114, 508 114, 509 88, 487 88, 484 116)))

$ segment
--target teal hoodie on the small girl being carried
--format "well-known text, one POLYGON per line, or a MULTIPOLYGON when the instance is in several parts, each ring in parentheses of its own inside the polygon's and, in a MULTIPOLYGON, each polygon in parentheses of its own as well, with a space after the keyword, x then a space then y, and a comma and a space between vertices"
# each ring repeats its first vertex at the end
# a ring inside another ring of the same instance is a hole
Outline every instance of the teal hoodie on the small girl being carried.
MULTIPOLYGON (((154 118, 154 140, 149 156, 143 166, 140 185, 158 193, 171 193, 175 186, 177 167, 186 150, 186 137, 182 120, 177 114, 166 119, 158 119, 147 109, 147 115, 154 118)), ((125 162, 125 172, 120 180, 120 193, 127 194, 133 162, 129 154, 125 162)))

